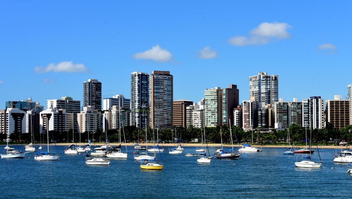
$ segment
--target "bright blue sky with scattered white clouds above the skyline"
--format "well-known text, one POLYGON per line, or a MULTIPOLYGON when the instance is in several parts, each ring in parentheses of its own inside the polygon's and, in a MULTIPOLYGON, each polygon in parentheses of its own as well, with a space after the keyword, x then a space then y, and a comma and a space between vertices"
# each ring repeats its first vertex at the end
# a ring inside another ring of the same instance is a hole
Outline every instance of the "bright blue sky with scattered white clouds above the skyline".
POLYGON ((279 75, 279 97, 345 99, 351 79, 350 1, 1 1, 0 109, 102 82, 130 98, 130 73, 174 75, 174 100, 279 75))

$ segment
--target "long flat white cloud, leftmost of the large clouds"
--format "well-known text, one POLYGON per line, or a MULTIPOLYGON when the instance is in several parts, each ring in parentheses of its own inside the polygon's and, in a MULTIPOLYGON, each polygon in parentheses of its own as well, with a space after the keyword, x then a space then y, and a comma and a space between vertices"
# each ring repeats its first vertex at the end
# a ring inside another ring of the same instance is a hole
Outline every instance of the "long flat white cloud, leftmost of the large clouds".
POLYGON ((83 64, 74 64, 72 61, 62 61, 55 64, 49 64, 46 67, 37 66, 34 68, 34 72, 37 73, 48 73, 48 72, 68 72, 68 73, 77 73, 77 72, 87 72, 87 68, 83 64))

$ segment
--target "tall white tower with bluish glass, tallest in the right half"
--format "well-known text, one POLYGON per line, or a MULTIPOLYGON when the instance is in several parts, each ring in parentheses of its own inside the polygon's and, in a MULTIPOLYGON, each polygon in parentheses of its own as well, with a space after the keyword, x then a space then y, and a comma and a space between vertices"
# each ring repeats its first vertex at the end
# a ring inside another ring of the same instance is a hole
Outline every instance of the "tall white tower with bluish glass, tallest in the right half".
POLYGON ((275 106, 279 96, 278 75, 268 75, 266 72, 259 72, 258 75, 249 77, 249 97, 260 102, 264 107, 266 104, 275 106))

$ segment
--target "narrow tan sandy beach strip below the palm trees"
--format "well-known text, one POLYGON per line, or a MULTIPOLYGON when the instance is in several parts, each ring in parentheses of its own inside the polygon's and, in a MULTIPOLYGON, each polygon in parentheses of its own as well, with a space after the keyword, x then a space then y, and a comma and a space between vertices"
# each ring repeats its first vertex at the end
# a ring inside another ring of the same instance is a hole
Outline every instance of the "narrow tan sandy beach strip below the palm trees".
MULTIPOLYGON (((56 143, 57 146, 69 146, 71 143, 56 143)), ((95 147, 99 147, 101 145, 103 145, 104 143, 92 143, 92 148, 95 147)), ((126 145, 127 146, 133 146, 136 143, 132 143, 132 142, 127 142, 126 145)), ((3 146, 6 146, 6 144, 2 144, 3 146)), ((2 146, 1 145, 1 146, 2 146)), ((10 144, 11 145, 26 145, 26 144, 10 144)), ((38 144, 36 143, 36 146, 45 146, 47 145, 46 143, 42 143, 42 144, 38 144)), ((50 143, 50 146, 55 145, 54 143, 50 143)), ((83 143, 81 143, 81 145, 84 145, 83 143)), ((118 146, 119 143, 110 143, 111 146, 118 146)), ((124 143, 121 143, 121 145, 124 145, 124 143)), ((148 146, 151 146, 152 144, 148 144, 148 146)), ((77 146, 77 145, 76 145, 77 146)), ((145 144, 140 144, 140 146, 146 146, 145 144)), ((177 146, 176 144, 159 144, 159 147, 171 147, 171 146, 177 146)), ((201 143, 182 143, 182 146, 187 147, 201 147, 202 144, 201 143)), ((219 143, 208 143, 209 147, 221 147, 221 144, 219 143)), ((229 144, 223 144, 224 147, 230 147, 231 145, 229 144)), ((242 147, 242 144, 240 144, 240 146, 242 147)), ((257 147, 257 148, 287 148, 290 147, 288 145, 252 145, 253 147, 257 147)), ((234 145, 234 147, 238 147, 238 144, 234 145)), ((302 146, 294 146, 295 148, 305 148, 305 145, 302 146)), ((316 148, 316 146, 312 146, 312 148, 316 148)), ((328 148, 328 149, 345 149, 348 150, 348 147, 346 148, 346 146, 318 146, 318 148, 328 148)))

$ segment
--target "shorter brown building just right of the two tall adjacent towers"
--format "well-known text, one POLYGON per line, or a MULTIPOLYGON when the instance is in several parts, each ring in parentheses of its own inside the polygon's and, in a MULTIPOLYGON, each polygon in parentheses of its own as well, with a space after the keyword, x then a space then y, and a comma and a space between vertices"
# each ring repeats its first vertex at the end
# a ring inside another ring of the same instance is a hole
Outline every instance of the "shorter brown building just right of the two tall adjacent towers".
POLYGON ((187 106, 193 106, 193 101, 176 100, 172 102, 172 125, 187 127, 187 106))

